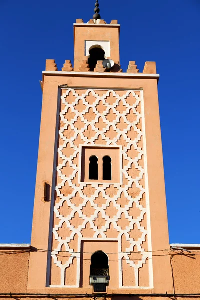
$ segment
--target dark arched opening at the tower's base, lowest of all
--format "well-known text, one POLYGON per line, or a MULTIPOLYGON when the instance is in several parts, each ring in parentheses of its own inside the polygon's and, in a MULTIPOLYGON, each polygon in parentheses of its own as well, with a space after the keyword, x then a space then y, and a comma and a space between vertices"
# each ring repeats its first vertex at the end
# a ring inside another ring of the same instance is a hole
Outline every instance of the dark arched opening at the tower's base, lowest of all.
POLYGON ((108 276, 108 257, 103 251, 91 255, 90 276, 108 276))

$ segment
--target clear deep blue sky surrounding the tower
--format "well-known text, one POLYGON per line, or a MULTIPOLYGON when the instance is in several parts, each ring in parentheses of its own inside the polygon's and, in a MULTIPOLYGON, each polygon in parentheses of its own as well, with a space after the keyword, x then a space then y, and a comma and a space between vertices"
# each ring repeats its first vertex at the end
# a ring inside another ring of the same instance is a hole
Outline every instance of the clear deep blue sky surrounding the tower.
MULTIPOLYGON (((0 0, 0 243, 28 243, 45 59, 73 61, 73 23, 95 0, 0 0)), ((199 0, 99 0, 121 24, 120 59, 156 61, 171 243, 200 243, 199 0)))

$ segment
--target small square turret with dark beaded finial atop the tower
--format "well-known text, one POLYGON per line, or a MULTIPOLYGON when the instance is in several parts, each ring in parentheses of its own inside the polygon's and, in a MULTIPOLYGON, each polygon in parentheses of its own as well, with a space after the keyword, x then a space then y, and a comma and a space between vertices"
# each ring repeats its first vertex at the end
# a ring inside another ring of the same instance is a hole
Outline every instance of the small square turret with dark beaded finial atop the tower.
POLYGON ((74 71, 100 71, 106 69, 102 61, 111 58, 114 72, 122 71, 119 67, 119 30, 117 20, 107 24, 101 20, 98 0, 95 3, 93 19, 84 23, 76 19, 74 24, 74 71))

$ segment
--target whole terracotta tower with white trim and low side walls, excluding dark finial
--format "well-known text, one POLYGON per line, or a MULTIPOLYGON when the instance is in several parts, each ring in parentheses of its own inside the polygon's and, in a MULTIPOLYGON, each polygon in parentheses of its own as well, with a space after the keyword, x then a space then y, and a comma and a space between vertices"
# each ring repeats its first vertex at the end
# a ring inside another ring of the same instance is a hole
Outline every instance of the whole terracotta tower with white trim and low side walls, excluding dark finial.
POLYGON ((98 251, 109 298, 199 292, 200 246, 168 240, 156 65, 123 72, 119 30, 78 19, 74 66, 46 60, 31 246, 0 247, 1 293, 87 297, 98 251), (90 70, 94 48, 113 68, 90 70))

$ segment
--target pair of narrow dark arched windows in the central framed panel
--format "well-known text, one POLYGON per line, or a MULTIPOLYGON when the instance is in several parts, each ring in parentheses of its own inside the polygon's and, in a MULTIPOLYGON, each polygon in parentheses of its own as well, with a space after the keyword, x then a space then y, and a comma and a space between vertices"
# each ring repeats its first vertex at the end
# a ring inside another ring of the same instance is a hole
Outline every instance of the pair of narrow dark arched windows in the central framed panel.
MULTIPOLYGON (((89 179, 98 180, 98 158, 89 157, 89 179)), ((103 157, 103 180, 112 180, 112 165, 110 156, 103 157)))

